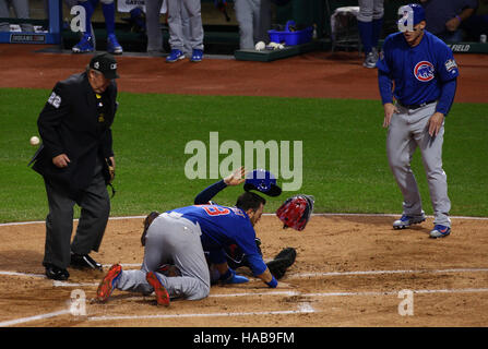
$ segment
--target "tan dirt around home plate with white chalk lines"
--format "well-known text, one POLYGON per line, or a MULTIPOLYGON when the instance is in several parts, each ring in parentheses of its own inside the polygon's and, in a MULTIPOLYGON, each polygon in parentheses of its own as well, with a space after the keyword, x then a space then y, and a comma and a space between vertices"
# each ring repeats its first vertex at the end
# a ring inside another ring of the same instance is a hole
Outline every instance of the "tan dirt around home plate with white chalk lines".
MULTIPOLYGON (((487 220, 453 218, 453 233, 431 240, 431 218, 403 231, 392 229, 392 219, 313 216, 297 232, 283 230, 275 216, 263 217, 257 232, 265 258, 285 246, 297 249, 282 280, 287 287, 269 289, 251 278, 215 286, 201 301, 176 300, 168 309, 156 306, 151 296, 117 290, 107 303, 93 302, 99 272, 70 269, 68 282, 48 280, 40 265, 44 224, 1 226, 0 325, 487 326, 487 220), (70 312, 73 290, 86 298, 85 316, 70 312), (413 315, 398 313, 402 290, 413 292, 413 315)), ((136 268, 141 228, 142 218, 110 220, 102 251, 93 256, 105 270, 112 263, 136 268)))

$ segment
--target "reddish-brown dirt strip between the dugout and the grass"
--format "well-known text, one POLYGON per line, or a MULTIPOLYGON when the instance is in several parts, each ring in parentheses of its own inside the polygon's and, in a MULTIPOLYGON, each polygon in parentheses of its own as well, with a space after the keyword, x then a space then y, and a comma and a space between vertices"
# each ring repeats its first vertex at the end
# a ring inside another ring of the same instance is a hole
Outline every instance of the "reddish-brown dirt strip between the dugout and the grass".
MULTIPOLYGON (((80 72, 91 56, 38 53, 44 46, 0 44, 0 87, 52 88, 80 72)), ((455 101, 487 103, 483 55, 455 55, 461 77, 455 101)), ((311 52, 273 62, 204 59, 176 64, 163 58, 119 57, 119 89, 132 93, 380 99, 377 71, 357 52, 311 52)))

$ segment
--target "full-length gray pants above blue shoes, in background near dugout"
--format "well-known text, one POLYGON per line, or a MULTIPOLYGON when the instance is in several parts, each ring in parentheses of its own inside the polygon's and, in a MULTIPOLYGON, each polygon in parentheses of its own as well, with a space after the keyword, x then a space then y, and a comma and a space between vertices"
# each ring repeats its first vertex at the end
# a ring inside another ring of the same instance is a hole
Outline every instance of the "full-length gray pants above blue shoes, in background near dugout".
POLYGON ((171 49, 185 50, 185 41, 191 49, 203 50, 203 24, 200 0, 167 0, 168 1, 168 27, 169 46, 171 49), (182 11, 185 7, 190 23, 189 37, 186 38, 182 25, 182 11))

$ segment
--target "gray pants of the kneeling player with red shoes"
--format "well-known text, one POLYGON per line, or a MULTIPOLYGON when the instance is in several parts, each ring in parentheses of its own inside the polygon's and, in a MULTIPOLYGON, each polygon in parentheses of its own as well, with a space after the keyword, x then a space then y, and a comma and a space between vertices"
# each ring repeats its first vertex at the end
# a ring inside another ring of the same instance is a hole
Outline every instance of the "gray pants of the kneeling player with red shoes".
POLYGON ((139 270, 122 270, 116 287, 123 291, 153 292, 145 276, 170 261, 181 276, 156 273, 170 298, 199 300, 210 293, 210 273, 203 253, 200 227, 180 215, 162 214, 147 229, 144 261, 139 270))

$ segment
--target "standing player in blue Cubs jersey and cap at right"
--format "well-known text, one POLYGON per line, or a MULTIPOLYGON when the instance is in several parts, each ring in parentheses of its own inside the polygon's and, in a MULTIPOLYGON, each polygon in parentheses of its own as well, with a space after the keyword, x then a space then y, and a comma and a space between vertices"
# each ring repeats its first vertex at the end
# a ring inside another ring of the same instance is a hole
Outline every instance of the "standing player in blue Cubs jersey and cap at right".
POLYGON ((401 33, 386 37, 377 63, 384 108, 383 128, 389 129, 388 159, 404 197, 403 215, 393 222, 393 228, 408 228, 426 219, 410 168, 418 147, 435 215, 430 237, 442 238, 451 233, 451 202, 442 169, 444 118, 454 100, 459 70, 451 49, 425 31, 421 5, 401 7, 398 15, 402 16, 398 20, 401 33))

